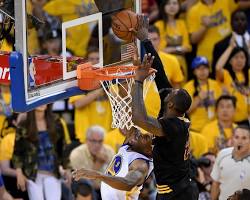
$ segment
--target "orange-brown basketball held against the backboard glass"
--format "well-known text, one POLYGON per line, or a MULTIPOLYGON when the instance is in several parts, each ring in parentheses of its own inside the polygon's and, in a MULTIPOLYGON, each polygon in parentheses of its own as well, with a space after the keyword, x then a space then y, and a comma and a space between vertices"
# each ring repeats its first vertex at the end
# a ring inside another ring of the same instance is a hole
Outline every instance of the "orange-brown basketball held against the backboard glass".
POLYGON ((133 41, 134 35, 130 29, 137 29, 137 15, 131 10, 123 10, 112 16, 114 34, 125 41, 133 41))

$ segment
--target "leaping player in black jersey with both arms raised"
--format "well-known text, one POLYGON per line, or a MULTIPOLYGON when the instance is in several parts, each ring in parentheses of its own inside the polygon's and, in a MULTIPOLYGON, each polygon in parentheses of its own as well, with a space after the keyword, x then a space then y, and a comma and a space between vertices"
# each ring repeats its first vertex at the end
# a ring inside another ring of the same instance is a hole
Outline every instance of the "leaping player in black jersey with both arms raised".
MULTIPOLYGON (((143 81, 150 73, 149 65, 138 67, 132 90, 133 122, 154 134, 153 161, 159 200, 196 200, 198 190, 192 186, 189 164, 189 121, 184 118, 191 105, 191 97, 184 89, 173 89, 161 60, 148 39, 148 20, 139 16, 139 27, 134 30, 147 53, 154 56, 157 70, 155 82, 161 98, 159 118, 147 115, 143 101, 143 81)), ((148 56, 147 59, 152 59, 148 56)), ((143 61, 145 62, 145 60, 143 61)))

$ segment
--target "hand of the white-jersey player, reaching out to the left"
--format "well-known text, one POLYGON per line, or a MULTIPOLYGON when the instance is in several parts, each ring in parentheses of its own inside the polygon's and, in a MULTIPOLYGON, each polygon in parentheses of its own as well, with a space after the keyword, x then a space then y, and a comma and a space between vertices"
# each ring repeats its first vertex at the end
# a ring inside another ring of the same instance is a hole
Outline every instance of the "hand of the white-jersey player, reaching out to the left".
POLYGON ((98 171, 90 170, 90 169, 77 169, 72 172, 73 179, 75 181, 80 180, 81 178, 85 179, 99 179, 101 177, 101 173, 98 171))

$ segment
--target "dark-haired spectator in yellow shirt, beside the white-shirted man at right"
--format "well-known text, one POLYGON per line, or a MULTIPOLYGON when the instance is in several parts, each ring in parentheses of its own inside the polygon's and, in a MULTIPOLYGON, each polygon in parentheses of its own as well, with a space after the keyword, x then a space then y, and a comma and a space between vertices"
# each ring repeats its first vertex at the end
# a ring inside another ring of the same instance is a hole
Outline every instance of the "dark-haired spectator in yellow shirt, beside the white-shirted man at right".
POLYGON ((236 124, 233 118, 236 108, 234 96, 222 95, 216 102, 217 118, 208 123, 201 131, 206 138, 210 152, 217 153, 231 145, 231 137, 236 124))

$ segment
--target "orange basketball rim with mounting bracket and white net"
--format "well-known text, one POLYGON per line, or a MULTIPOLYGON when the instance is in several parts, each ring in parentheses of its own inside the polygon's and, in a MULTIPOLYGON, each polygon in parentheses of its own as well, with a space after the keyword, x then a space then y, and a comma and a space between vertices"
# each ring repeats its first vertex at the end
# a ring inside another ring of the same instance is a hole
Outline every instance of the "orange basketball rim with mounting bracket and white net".
MULTIPOLYGON (((113 66, 95 68, 86 63, 77 67, 78 86, 82 90, 93 90, 103 87, 112 109, 112 128, 131 129, 132 122, 132 86, 136 66, 113 66)), ((144 81, 143 97, 146 97, 149 86, 155 75, 144 81)))

